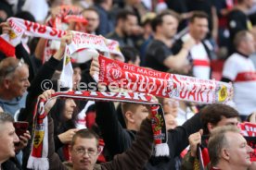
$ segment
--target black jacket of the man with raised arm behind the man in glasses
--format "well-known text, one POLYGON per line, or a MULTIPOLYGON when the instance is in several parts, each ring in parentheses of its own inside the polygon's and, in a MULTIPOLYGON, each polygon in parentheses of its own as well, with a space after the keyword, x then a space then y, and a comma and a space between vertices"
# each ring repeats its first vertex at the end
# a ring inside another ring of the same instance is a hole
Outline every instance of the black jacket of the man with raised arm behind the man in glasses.
MULTIPOLYGON (((132 146, 135 140, 135 132, 122 128, 115 113, 113 103, 96 103, 96 123, 100 128, 105 141, 105 147, 113 157, 125 152, 132 146)), ((166 157, 151 156, 144 169, 147 170, 173 170, 175 169, 174 158, 186 149, 188 137, 202 128, 200 113, 194 115, 186 123, 168 131, 168 146, 170 155, 166 157)))

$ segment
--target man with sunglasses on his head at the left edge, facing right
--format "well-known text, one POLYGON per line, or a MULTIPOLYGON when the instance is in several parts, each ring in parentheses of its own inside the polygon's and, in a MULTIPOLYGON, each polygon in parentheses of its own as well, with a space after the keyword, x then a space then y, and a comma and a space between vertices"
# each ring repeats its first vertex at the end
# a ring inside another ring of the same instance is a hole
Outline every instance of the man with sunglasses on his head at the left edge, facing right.
POLYGON ((30 87, 29 68, 19 59, 8 57, 0 63, 0 107, 15 115, 25 107, 27 89, 30 87))

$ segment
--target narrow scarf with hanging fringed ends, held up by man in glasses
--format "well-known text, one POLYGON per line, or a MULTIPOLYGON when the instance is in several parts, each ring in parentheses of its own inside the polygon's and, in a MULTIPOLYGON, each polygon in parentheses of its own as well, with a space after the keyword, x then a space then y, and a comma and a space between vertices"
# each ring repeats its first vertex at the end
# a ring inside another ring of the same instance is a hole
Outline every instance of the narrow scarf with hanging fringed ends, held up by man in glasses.
MULTIPOLYGON (((167 131, 160 103, 153 101, 151 95, 137 92, 103 92, 103 91, 68 91, 56 92, 52 98, 71 98, 74 100, 112 101, 122 103, 142 103, 151 107, 151 128, 154 135, 155 155, 169 155, 167 131)), ((48 156, 48 121, 45 113, 47 101, 39 100, 34 110, 32 133, 32 152, 27 164, 28 168, 37 170, 49 169, 48 156)))

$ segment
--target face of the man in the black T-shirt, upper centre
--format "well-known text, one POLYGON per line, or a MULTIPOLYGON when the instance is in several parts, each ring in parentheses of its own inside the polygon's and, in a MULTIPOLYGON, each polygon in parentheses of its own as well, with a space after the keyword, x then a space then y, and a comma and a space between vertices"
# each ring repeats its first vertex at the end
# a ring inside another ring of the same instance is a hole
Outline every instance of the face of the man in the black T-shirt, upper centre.
POLYGON ((176 18, 173 18, 171 15, 166 15, 162 17, 162 24, 160 25, 160 31, 163 35, 172 39, 175 33, 177 32, 179 22, 176 18))

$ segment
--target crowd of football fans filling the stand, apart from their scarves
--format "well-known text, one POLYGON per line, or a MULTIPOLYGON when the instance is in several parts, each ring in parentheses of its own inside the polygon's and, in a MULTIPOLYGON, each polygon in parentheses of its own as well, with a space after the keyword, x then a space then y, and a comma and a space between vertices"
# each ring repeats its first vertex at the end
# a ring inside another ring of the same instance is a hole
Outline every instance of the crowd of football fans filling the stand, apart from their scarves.
MULTIPOLYGON (((45 106, 50 117, 50 169, 198 169, 198 146, 208 152, 206 169, 256 169, 250 161, 253 150, 237 128, 243 121, 256 124, 256 2, 2 0, 2 33, 10 29, 6 22, 10 17, 50 26, 48 18, 57 18, 63 5, 80 6, 87 20, 81 27, 70 22, 66 28, 118 41, 125 63, 232 82, 234 98, 229 105, 159 98, 170 149, 170 155, 163 157, 152 151, 151 113, 145 105, 57 99, 45 106)), ((71 33, 64 35, 48 61, 43 58, 42 38, 24 35, 15 47, 16 58, 0 52, 0 169, 27 169, 34 106, 38 98, 48 99, 58 91, 62 58, 71 38, 71 33), (52 80, 53 90, 40 88, 45 79, 52 80), (19 137, 15 121, 29 122, 19 137)), ((118 55, 110 57, 120 60, 118 55)), ((96 59, 73 61, 72 67, 73 91, 80 82, 95 82, 96 59)))

